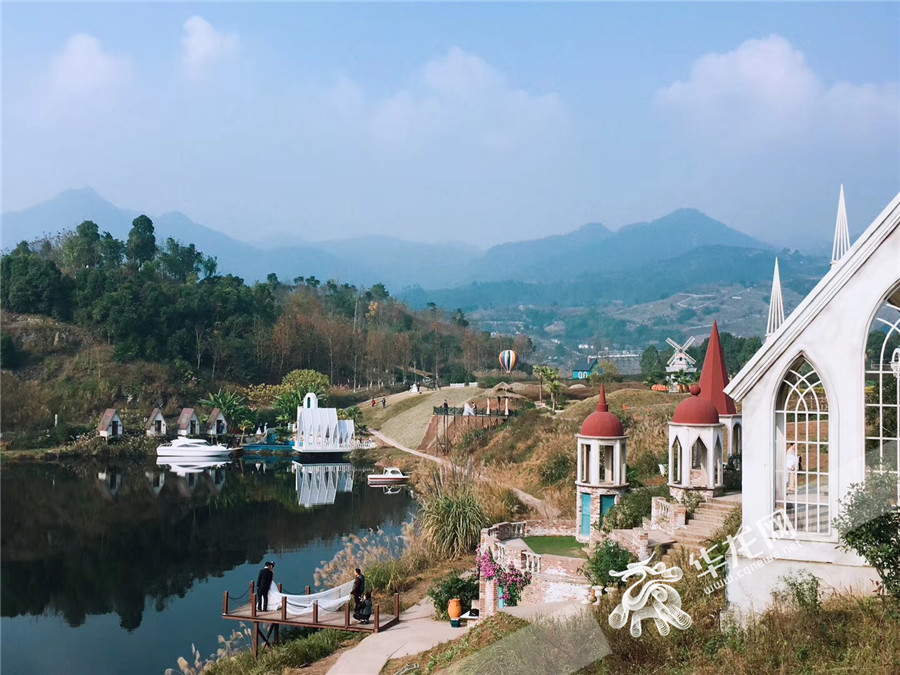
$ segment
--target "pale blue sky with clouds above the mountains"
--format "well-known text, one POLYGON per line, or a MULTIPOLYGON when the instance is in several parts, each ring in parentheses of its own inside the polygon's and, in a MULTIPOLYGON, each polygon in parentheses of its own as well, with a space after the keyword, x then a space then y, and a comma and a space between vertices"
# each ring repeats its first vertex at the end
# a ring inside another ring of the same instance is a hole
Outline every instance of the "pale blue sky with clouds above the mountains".
POLYGON ((900 190, 898 3, 4 3, 0 55, 4 212, 487 247, 694 207, 801 247, 900 190))

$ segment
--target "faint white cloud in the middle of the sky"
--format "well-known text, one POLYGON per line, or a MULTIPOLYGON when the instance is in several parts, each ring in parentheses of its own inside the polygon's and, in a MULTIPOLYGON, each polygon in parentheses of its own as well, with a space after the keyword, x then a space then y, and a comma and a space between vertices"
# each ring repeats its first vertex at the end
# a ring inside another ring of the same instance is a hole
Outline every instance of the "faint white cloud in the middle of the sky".
POLYGON ((486 61, 453 47, 426 63, 413 86, 378 104, 371 124, 376 137, 386 142, 456 138, 504 150, 555 136, 564 122, 556 94, 516 89, 486 61))

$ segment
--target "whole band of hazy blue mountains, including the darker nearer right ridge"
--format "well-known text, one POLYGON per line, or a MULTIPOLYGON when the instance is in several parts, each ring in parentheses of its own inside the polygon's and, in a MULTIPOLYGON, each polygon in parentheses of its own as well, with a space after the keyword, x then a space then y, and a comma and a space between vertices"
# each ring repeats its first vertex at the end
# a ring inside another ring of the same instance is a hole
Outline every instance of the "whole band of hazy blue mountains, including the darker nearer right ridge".
MULTIPOLYGON (((90 188, 68 190, 4 214, 0 245, 8 249, 23 239, 74 229, 83 220, 93 220, 101 232, 125 239, 138 215, 109 203, 90 188)), ((683 289, 693 281, 716 283, 734 275, 744 278, 742 274, 750 281, 771 274, 771 254, 761 255, 770 250, 768 244, 695 209, 681 209, 615 232, 590 223, 568 234, 501 244, 484 253, 459 242, 425 244, 377 235, 323 242, 270 238, 255 245, 196 223, 183 213, 148 215, 158 243, 167 237, 193 243, 217 258, 221 272, 249 281, 274 272, 287 282, 300 276, 364 285, 382 282, 394 294, 410 287, 410 299, 448 298, 436 301, 453 307, 478 306, 487 298, 498 303, 547 304, 637 300, 665 292, 667 284, 683 289), (704 247, 743 252, 730 253, 724 258, 729 262, 714 264, 720 254, 711 258, 699 253, 704 247), (751 262, 753 256, 766 262, 757 268, 751 262), (691 276, 693 280, 687 278, 691 276), (470 285, 461 286, 466 283, 470 285), (431 290, 441 288, 453 290, 431 290)))

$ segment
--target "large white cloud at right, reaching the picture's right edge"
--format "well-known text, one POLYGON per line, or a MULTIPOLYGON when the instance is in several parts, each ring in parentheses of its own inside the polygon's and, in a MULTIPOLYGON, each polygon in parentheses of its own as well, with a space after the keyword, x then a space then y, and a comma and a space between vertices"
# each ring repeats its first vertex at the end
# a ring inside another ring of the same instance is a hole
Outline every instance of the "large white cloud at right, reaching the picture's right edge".
POLYGON ((896 128, 896 83, 827 86, 803 52, 778 35, 701 56, 690 76, 657 93, 658 103, 704 134, 779 140, 810 133, 854 139, 896 128))

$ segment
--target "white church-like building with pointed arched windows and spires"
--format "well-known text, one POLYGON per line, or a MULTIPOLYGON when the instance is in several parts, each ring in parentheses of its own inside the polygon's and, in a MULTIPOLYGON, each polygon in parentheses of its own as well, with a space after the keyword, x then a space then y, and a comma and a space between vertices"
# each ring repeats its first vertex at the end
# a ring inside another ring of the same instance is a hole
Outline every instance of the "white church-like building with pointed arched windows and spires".
POLYGON ((900 194, 850 246, 842 188, 831 270, 785 319, 776 267, 766 342, 725 388, 742 403, 744 526, 757 550, 781 555, 756 571, 750 555, 729 565, 738 608, 762 609, 799 569, 826 589, 871 592, 878 578, 840 549, 833 520, 851 485, 898 476, 898 223, 900 194), (796 541, 778 538, 776 512, 796 541))

